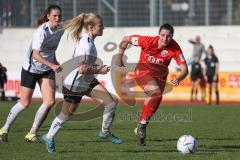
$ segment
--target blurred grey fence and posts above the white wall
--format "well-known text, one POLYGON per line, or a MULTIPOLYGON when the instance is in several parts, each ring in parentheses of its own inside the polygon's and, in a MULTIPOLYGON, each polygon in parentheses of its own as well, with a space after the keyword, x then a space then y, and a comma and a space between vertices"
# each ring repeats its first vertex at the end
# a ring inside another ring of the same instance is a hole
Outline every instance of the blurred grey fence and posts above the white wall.
POLYGON ((240 24, 240 0, 0 0, 0 23, 33 27, 49 4, 62 7, 63 20, 99 13, 107 27, 240 24))

